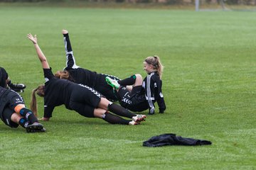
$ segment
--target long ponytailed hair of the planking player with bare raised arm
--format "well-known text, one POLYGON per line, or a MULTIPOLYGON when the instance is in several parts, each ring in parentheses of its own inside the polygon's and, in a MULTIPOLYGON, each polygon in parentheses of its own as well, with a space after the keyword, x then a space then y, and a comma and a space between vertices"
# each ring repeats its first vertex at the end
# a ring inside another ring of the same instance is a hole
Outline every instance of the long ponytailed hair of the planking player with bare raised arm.
POLYGON ((31 111, 37 116, 37 102, 36 102, 36 94, 38 96, 43 97, 44 96, 44 90, 45 90, 45 85, 40 85, 38 86, 38 88, 33 89, 32 94, 31 94, 31 103, 30 103, 30 107, 31 107, 31 111))

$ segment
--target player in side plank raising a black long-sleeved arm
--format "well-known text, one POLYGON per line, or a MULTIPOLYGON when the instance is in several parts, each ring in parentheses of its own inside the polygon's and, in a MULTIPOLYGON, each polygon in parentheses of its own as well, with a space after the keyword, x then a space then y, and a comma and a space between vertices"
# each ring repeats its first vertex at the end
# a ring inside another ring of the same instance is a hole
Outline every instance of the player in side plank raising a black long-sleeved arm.
POLYGON ((97 72, 92 72, 89 69, 84 69, 77 66, 75 64, 75 57, 73 55, 70 38, 68 36, 68 30, 63 30, 63 37, 66 54, 66 67, 64 68, 64 71, 58 71, 55 74, 55 77, 60 79, 68 79, 76 84, 90 86, 99 91, 100 94, 105 96, 108 100, 117 101, 116 92, 107 84, 105 78, 111 77, 112 79, 117 80, 119 80, 119 78, 107 74, 98 74, 97 72))

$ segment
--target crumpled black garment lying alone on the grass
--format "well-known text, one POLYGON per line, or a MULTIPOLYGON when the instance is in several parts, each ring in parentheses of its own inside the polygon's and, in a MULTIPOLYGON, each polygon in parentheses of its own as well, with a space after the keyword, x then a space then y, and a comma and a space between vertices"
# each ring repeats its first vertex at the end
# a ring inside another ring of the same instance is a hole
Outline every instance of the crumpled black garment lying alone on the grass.
POLYGON ((181 136, 176 136, 173 133, 166 133, 159 136, 151 137, 149 140, 143 142, 144 147, 163 147, 167 145, 185 145, 185 146, 195 146, 195 145, 211 145, 212 142, 208 140, 196 140, 193 138, 186 138, 181 136))

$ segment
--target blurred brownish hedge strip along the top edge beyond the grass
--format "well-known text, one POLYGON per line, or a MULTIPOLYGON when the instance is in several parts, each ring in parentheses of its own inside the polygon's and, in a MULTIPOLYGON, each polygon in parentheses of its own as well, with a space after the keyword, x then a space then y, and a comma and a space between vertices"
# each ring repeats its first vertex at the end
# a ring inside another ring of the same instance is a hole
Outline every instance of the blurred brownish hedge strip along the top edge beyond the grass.
MULTIPOLYGON (((63 2, 70 0, 0 0, 0 2, 39 2, 39 1, 50 1, 50 2, 63 2)), ((196 0, 77 0, 87 2, 117 2, 117 3, 164 3, 170 5, 193 5, 196 0)), ((220 4, 224 2, 230 5, 252 5, 256 6, 256 0, 199 0, 201 4, 220 4)))

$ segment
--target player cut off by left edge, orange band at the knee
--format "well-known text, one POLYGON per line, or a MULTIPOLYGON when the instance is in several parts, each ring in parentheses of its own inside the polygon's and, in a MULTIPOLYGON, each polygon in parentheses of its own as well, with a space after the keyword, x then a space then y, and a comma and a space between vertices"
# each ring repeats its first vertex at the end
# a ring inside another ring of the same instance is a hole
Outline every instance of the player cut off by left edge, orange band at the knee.
POLYGON ((17 128, 18 125, 21 125, 23 128, 26 128, 26 132, 46 132, 43 125, 38 123, 36 115, 25 107, 23 98, 15 91, 1 86, 0 118, 11 128, 17 128))

